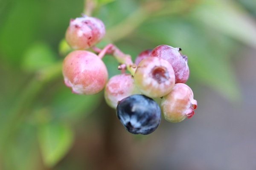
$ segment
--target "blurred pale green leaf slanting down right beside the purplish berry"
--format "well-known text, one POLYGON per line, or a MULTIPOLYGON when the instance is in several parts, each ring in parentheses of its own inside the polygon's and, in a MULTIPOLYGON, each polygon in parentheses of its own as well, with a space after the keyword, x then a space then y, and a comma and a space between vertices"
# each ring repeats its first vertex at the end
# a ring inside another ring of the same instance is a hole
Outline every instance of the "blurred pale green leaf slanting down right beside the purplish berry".
POLYGON ((217 57, 205 57, 209 51, 202 51, 201 55, 192 49, 186 51, 190 54, 189 66, 190 70, 194 71, 193 78, 217 90, 221 96, 230 102, 239 101, 241 88, 230 62, 217 57))

